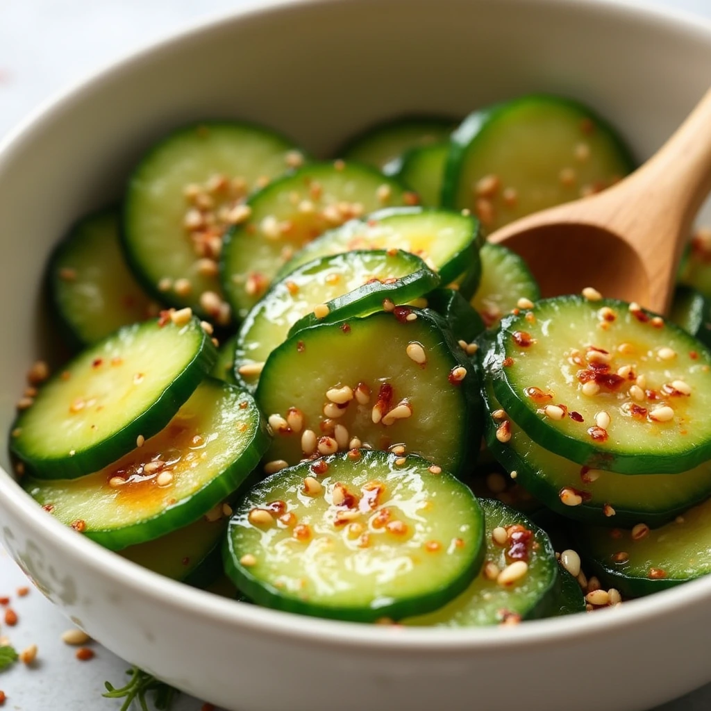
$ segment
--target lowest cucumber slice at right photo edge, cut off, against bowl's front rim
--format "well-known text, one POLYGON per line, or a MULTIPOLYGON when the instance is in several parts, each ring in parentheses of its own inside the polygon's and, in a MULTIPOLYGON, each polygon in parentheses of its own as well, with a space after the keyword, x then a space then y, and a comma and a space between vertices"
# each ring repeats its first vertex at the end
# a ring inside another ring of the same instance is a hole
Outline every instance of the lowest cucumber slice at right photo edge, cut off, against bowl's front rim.
POLYGON ((639 523, 630 530, 577 530, 581 555, 623 595, 648 595, 711 572, 711 500, 661 528, 639 523))

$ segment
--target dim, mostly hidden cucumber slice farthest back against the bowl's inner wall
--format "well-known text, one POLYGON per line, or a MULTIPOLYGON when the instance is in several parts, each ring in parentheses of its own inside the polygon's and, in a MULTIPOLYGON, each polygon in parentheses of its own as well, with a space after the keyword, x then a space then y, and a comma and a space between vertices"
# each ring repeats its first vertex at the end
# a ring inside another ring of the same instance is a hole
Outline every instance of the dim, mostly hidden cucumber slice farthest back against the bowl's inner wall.
POLYGON ((385 121, 351 139, 339 154, 393 175, 399 171, 400 156, 405 151, 445 141, 455 127, 451 119, 433 116, 385 121))

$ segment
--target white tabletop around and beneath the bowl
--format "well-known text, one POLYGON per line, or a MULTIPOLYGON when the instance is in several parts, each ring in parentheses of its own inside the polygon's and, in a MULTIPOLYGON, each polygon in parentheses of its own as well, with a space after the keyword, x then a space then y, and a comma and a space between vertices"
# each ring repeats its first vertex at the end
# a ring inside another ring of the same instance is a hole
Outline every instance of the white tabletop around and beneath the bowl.
MULTIPOLYGON (((659 4, 711 18, 711 0, 659 4)), ((193 19, 239 5, 240 0, 0 0, 0 136, 39 102, 97 66, 193 19)), ((0 549, 0 597, 14 597, 25 584, 0 549)), ((101 693, 104 680, 122 685, 127 663, 97 645, 92 661, 77 661, 75 648, 60 640, 70 623, 36 590, 14 597, 13 606, 18 624, 3 626, 0 634, 8 634, 18 649, 35 643, 39 653, 33 668, 18 663, 0 673, 0 690, 7 695, 3 711, 118 711, 122 702, 102 699, 101 693)), ((174 710, 199 711, 201 705, 181 695, 174 710)), ((711 685, 655 711, 709 709, 711 685)))

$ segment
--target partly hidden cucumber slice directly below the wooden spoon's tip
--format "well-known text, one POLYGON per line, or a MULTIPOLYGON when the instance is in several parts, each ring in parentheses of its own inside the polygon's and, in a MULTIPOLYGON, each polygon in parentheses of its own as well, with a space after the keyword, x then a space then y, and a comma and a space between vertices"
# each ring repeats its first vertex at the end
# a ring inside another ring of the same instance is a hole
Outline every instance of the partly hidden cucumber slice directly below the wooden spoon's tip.
POLYGON ((487 243, 481 247, 479 257, 481 280, 471 305, 487 328, 496 328, 503 316, 518 308, 520 299, 540 299, 540 289, 533 274, 515 252, 487 243))

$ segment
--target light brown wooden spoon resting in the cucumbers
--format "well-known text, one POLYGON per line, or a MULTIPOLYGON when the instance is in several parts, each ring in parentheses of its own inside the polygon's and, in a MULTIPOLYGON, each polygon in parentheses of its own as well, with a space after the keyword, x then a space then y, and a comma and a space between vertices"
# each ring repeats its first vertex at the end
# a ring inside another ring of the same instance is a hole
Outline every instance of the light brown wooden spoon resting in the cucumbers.
POLYGON ((521 255, 543 296, 594 287, 663 314, 711 190, 711 90, 646 164, 601 193, 528 215, 490 242, 521 255))

